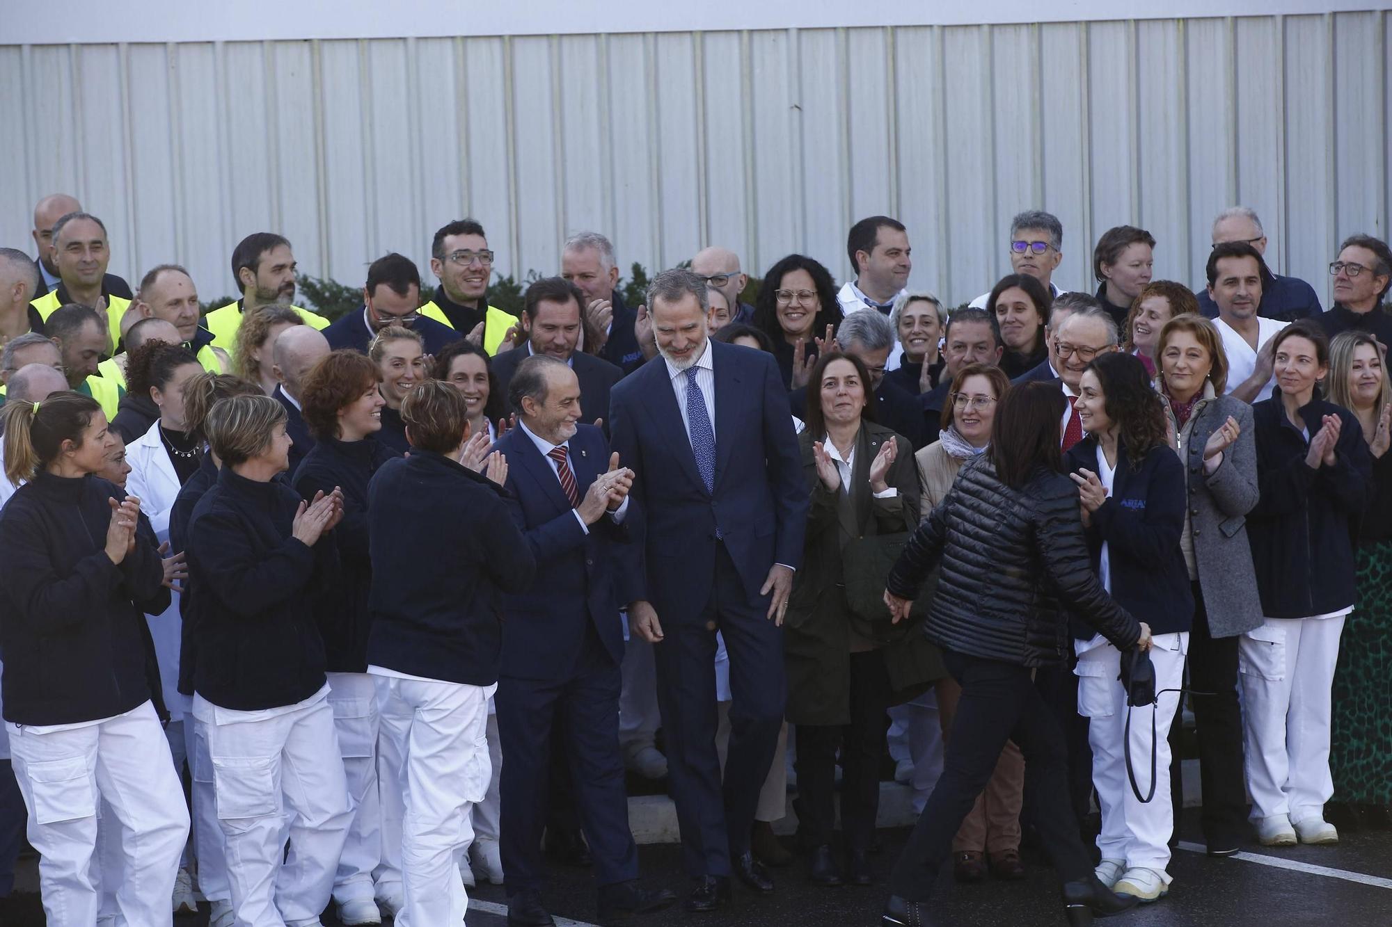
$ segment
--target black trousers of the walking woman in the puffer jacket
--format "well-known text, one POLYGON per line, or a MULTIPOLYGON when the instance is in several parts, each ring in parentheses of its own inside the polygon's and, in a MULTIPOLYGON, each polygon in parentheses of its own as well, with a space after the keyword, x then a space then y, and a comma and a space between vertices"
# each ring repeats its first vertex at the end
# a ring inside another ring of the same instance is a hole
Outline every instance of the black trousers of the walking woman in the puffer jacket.
POLYGON ((954 650, 944 650, 942 661, 962 685, 962 700, 948 734, 942 775, 894 866, 889 891, 909 901, 928 899, 938 870, 952 853, 952 838, 991 778, 1008 739, 1025 754, 1025 796, 1054 869, 1063 881, 1091 876, 1091 857, 1068 800, 1063 731, 1040 700, 1030 671, 954 650))

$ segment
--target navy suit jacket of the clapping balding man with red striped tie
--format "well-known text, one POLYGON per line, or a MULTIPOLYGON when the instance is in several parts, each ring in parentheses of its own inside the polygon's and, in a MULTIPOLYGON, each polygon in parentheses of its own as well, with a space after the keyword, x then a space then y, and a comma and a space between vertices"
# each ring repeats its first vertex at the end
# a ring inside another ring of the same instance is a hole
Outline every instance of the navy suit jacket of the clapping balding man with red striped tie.
MULTIPOLYGON (((532 585, 503 599, 498 672, 519 679, 569 679, 585 650, 586 625, 594 626, 617 667, 624 658, 618 612, 628 529, 604 515, 586 533, 550 461, 521 426, 498 438, 493 450, 508 459, 507 507, 536 558, 532 585)), ((580 498, 608 469, 608 458, 604 433, 580 425, 568 458, 580 498)))

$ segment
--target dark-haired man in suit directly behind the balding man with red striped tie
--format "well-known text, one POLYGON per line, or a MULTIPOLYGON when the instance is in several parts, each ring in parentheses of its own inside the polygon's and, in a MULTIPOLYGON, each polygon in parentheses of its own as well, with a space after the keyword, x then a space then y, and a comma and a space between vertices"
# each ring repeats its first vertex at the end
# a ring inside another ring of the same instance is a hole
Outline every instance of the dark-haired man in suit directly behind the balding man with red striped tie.
MULTIPOLYGON (((543 277, 526 288, 522 298, 522 331, 526 344, 504 351, 493 358, 493 374, 498 388, 508 395, 508 383, 518 365, 530 356, 544 354, 564 360, 580 381, 580 423, 594 425, 608 415, 610 390, 624 379, 617 366, 578 351, 580 342, 580 313, 585 295, 579 287, 561 277, 543 277)), ((521 415, 522 409, 509 409, 521 415)))

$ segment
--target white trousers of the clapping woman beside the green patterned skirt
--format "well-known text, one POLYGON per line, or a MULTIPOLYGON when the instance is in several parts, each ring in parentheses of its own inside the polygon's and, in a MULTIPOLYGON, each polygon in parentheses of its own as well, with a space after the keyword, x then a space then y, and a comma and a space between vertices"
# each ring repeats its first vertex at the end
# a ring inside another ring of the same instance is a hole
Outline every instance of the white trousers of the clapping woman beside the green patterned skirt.
POLYGON ((1334 796, 1329 714, 1343 615, 1267 618, 1239 637, 1251 820, 1324 817, 1334 796))

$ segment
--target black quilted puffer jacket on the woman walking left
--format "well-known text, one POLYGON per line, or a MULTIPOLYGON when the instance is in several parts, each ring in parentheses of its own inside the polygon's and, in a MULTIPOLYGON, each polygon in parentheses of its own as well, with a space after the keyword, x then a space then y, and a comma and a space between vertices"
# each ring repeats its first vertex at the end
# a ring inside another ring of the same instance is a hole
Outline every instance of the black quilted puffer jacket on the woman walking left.
POLYGON ((926 633, 959 653, 1025 667, 1062 663, 1068 612, 1118 649, 1140 625, 1093 573, 1077 487, 1044 468, 1019 490, 983 454, 962 468, 942 504, 919 525, 889 573, 889 592, 915 599, 940 565, 926 633))

